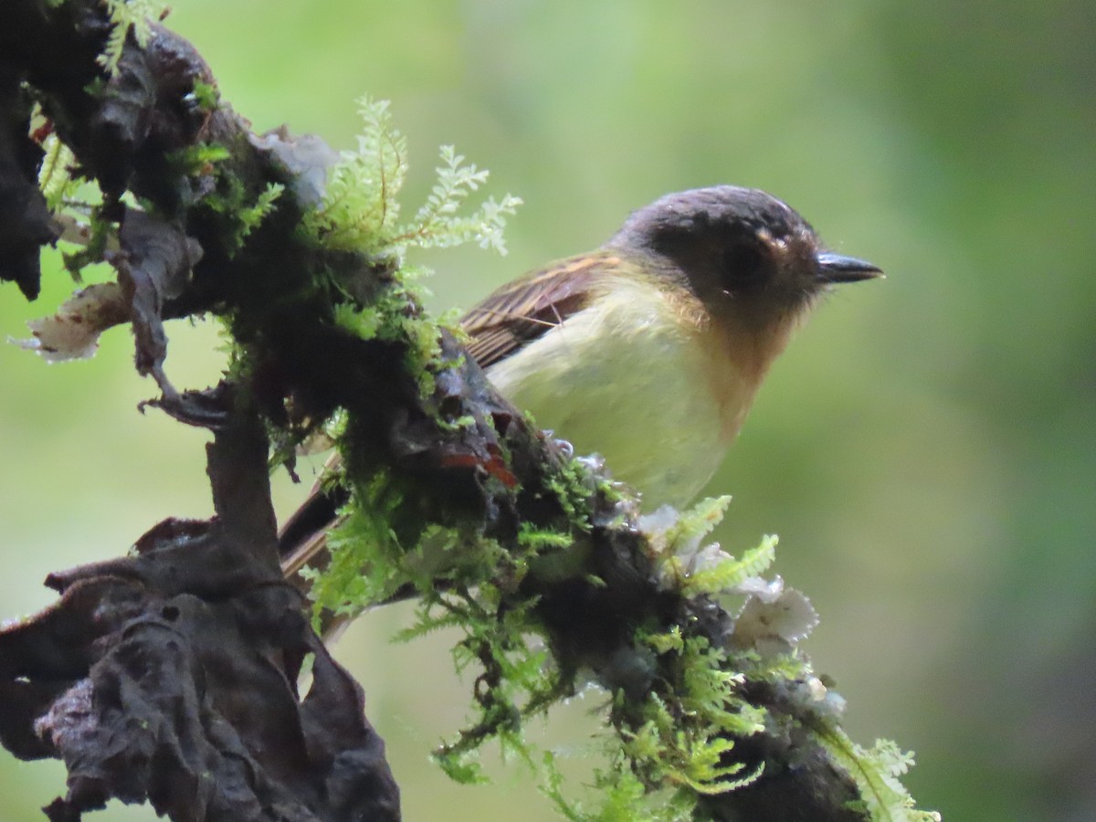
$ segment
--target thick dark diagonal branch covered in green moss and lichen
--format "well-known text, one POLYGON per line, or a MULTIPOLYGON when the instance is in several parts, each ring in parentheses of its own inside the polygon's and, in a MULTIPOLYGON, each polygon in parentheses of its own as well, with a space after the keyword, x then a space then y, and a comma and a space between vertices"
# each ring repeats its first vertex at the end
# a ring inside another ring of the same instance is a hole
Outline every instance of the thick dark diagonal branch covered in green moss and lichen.
MULTIPOLYGON (((773 544, 741 559, 703 545, 721 514, 719 501, 640 516, 627 490, 600 466, 561 453, 487 384, 458 335, 423 311, 403 251, 468 240, 501 250, 502 224, 516 201, 489 199, 460 216, 461 202, 486 172, 444 149, 437 186, 401 225, 396 195, 407 147, 386 106, 363 103, 362 142, 341 161, 315 138, 284 129, 253 135, 219 101, 212 71, 189 43, 158 24, 119 16, 119 8, 114 0, 11 0, 5 7, 0 214, 20 219, 0 232, 0 277, 36 294, 37 249, 62 228, 52 212, 64 202, 56 168, 46 174, 48 198, 37 187, 43 152, 32 136, 36 106, 71 151, 77 173, 102 194, 91 212, 92 236, 106 240, 95 253, 117 271, 116 287, 85 293, 80 320, 69 324, 87 324, 89 317, 100 318, 98 330, 129 322, 136 366, 161 391, 153 404, 217 432, 250 421, 250 442, 258 437, 260 450, 272 442, 290 469, 294 446, 339 420, 333 427, 344 480, 333 495, 343 498, 343 525, 332 571, 317 578, 315 590, 322 604, 355 610, 413 589, 422 602, 421 630, 461 628, 456 657, 480 669, 473 694, 479 716, 438 752, 447 770, 475 778, 468 754, 496 738, 545 763, 546 792, 574 820, 916 818, 895 780, 905 760, 886 746, 866 753, 849 743, 838 727, 840 699, 800 654, 798 642, 814 620, 806 597, 760 578, 773 544), (232 340, 228 385, 214 393, 181 392, 164 369, 164 320, 199 313, 221 318, 232 340), (362 568, 368 576, 357 573, 362 568), (745 605, 730 613, 715 598, 724 594, 745 605), (530 650, 534 633, 545 639, 547 655, 530 650), (551 757, 535 756, 521 734, 525 717, 587 680, 612 697, 609 766, 595 776, 601 796, 594 810, 566 796, 551 757), (652 796, 659 801, 652 803, 652 796)), ((45 350, 65 344, 45 339, 38 338, 45 350)), ((87 350, 85 339, 81 345, 87 350)), ((232 562, 220 549, 195 555, 208 575, 183 593, 206 603, 283 590, 270 576, 277 558, 265 509, 255 503, 262 483, 253 452, 247 456, 252 472, 240 473, 250 478, 250 513, 237 511, 244 503, 225 491, 225 482, 218 486, 232 471, 224 463, 215 468, 212 458, 218 520, 158 526, 139 566, 142 579, 165 585, 173 578, 157 574, 167 557, 190 556, 195 545, 231 545, 246 548, 231 553, 232 562)), ((112 572, 136 573, 119 562, 112 572)), ((87 596, 94 604, 95 595, 116 594, 107 586, 87 596)), ((77 598, 66 597, 69 605, 77 598)), ((168 618, 159 601, 156 607, 158 618, 168 618)), ((31 625, 38 641, 52 636, 48 615, 31 625)), ((198 641, 203 625, 195 616, 198 648, 205 647, 198 641)), ((95 652, 121 648, 123 635, 118 646, 96 640, 95 652)), ((25 636, 0 637, 12 659, 36 653, 20 644, 25 636)), ((289 648, 271 654, 288 660, 288 681, 306 653, 334 670, 312 640, 289 648)), ((187 675, 209 673, 202 653, 187 661, 187 675)), ((4 744, 27 755, 66 755, 60 735, 37 747, 30 742, 34 710, 64 712, 61 703, 82 693, 79 687, 93 695, 103 681, 90 675, 87 657, 71 660, 68 678, 52 680, 48 688, 34 671, 30 663, 4 670, 4 687, 25 690, 30 684, 36 695, 0 723, 20 731, 4 735, 4 744)), ((249 716, 249 727, 282 729, 286 716, 299 717, 295 744, 312 755, 310 733, 322 706, 309 699, 361 708, 344 678, 327 675, 323 683, 318 696, 313 688, 290 700, 292 711, 285 692, 260 700, 252 707, 269 716, 249 716)), ((358 818, 363 807, 381 809, 369 818, 398 813, 392 786, 376 778, 387 768, 369 741, 372 729, 359 730, 339 751, 357 752, 341 767, 362 776, 355 785, 364 794, 355 795, 357 803, 315 811, 324 819, 358 818)), ((149 744, 146 737, 121 739, 149 744)), ((272 750, 269 739, 244 737, 240 745, 239 761, 272 750)), ((57 813, 78 814, 106 796, 155 798, 155 786, 123 776, 94 796, 70 792, 57 813)), ((298 797, 305 806, 319 807, 321 796, 331 801, 330 790, 310 783, 293 787, 317 791, 298 797)), ((261 799, 263 786, 256 791, 261 799)), ((224 818, 270 818, 262 810, 269 803, 256 802, 224 818)), ((195 811, 173 804, 168 812, 190 819, 195 811)))

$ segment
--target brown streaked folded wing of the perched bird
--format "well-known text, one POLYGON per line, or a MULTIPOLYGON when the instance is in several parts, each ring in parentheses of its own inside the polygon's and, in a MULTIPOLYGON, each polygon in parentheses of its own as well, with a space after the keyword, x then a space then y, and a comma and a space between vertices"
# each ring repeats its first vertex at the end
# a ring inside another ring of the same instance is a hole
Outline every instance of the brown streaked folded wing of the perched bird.
POLYGON ((467 349, 489 368, 585 308, 604 272, 620 265, 608 251, 560 260, 507 283, 466 313, 467 349))

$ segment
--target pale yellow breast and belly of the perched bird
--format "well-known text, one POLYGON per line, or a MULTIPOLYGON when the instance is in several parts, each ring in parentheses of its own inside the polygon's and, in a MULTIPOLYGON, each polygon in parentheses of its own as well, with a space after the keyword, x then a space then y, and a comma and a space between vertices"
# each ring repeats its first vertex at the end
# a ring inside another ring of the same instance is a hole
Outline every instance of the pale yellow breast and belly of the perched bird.
POLYGON ((722 461, 764 373, 735 366, 727 345, 695 298, 620 278, 488 376, 578 453, 602 454, 644 507, 683 505, 722 461))

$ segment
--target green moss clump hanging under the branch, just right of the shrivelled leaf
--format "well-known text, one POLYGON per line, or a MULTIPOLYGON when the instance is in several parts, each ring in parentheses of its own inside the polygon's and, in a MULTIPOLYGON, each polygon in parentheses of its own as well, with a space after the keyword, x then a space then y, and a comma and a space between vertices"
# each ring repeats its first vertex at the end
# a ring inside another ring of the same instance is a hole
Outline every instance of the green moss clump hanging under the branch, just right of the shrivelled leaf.
POLYGON ((525 528, 515 550, 475 532, 430 524, 414 544, 401 543, 392 527, 403 493, 392 479, 377 472, 354 482, 340 525, 329 536, 331 560, 312 580, 317 613, 356 614, 413 585, 421 594, 414 624, 397 639, 408 641, 442 628, 461 638, 453 648, 458 671, 479 669, 473 716, 468 726, 434 752, 438 765, 460 783, 481 781, 479 749, 498 741, 504 756, 535 766, 525 741, 525 720, 548 710, 570 693, 549 666, 534 598, 514 594, 533 562, 571 545, 566 534, 525 528))

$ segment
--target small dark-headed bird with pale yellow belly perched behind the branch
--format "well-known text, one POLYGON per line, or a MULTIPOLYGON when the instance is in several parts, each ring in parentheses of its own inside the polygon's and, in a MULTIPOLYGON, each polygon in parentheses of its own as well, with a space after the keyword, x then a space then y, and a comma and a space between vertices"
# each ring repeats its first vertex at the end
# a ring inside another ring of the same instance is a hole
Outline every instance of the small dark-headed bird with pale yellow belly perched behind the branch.
MULTIPOLYGON (((880 273, 825 251, 776 197, 717 185, 640 208, 596 251, 504 285, 461 324, 489 379, 538 425, 604 456, 646 509, 681 506, 817 298, 880 273)), ((287 573, 315 552, 294 545, 298 530, 283 532, 287 573)))

